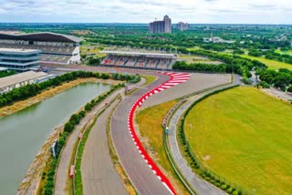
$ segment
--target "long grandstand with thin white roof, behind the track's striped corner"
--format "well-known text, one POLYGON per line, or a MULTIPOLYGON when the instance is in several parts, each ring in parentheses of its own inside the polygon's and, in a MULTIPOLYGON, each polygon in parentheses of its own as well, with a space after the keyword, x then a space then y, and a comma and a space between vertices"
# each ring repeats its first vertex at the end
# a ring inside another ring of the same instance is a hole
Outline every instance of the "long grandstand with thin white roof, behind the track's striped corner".
POLYGON ((136 67, 145 69, 172 69, 177 57, 172 54, 101 51, 107 54, 101 62, 104 66, 136 67))

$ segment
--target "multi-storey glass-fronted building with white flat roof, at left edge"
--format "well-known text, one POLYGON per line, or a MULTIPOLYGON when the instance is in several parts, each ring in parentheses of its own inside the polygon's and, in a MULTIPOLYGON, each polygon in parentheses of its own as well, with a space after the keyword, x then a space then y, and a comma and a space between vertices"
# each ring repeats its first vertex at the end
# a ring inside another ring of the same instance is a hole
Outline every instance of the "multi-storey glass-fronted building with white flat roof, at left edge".
POLYGON ((41 51, 35 49, 0 48, 0 67, 27 71, 39 67, 41 51))

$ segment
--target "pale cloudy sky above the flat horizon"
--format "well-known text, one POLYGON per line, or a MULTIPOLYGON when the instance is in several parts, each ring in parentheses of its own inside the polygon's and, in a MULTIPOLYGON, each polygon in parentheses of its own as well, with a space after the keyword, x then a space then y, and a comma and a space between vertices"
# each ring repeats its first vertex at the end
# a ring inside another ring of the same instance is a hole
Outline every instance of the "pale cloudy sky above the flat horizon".
POLYGON ((292 24, 292 0, 0 0, 0 22, 292 24))

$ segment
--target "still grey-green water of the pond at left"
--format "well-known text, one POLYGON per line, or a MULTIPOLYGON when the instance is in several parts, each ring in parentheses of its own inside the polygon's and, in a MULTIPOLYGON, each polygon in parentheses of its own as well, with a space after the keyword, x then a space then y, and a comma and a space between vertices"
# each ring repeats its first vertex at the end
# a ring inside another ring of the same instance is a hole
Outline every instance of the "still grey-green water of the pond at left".
POLYGON ((1 193, 16 194, 26 169, 52 130, 92 98, 109 89, 109 85, 80 84, 13 115, 0 118, 1 193))

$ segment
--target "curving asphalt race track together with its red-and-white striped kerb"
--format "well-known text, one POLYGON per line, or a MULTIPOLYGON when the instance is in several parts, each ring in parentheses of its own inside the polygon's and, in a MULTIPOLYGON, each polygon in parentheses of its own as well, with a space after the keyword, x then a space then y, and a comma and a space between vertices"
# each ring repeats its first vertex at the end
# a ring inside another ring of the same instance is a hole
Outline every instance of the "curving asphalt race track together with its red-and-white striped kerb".
POLYGON ((154 83, 120 103, 111 121, 111 135, 121 164, 139 194, 175 194, 170 181, 141 146, 133 128, 133 116, 148 97, 183 83, 189 75, 170 73, 171 79, 162 74, 156 76, 159 79, 154 83), (125 113, 130 113, 128 118, 125 113))

